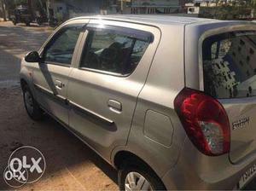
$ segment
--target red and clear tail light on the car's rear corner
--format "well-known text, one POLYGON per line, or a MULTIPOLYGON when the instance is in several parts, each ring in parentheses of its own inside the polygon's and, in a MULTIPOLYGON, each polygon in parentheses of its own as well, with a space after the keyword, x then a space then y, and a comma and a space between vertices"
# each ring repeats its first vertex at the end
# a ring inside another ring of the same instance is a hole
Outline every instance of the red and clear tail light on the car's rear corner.
POLYGON ((218 156, 230 152, 230 122, 217 100, 185 88, 175 98, 174 107, 189 139, 201 153, 218 156))

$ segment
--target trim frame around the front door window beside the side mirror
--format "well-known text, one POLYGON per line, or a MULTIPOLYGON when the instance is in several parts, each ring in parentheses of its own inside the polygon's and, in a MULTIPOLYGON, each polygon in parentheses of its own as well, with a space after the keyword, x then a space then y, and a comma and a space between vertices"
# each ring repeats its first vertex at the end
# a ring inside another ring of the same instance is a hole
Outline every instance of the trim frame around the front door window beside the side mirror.
MULTIPOLYGON (((41 64, 49 64, 49 65, 56 65, 56 66, 61 66, 61 67, 71 67, 72 66, 72 62, 73 62, 73 56, 72 56, 72 60, 70 62, 70 64, 67 63, 62 63, 62 62, 57 62, 57 61, 45 61, 45 51, 47 51, 47 49, 49 48, 49 46, 51 46, 55 40, 57 38, 59 38, 59 36, 61 35, 62 32, 65 32, 66 30, 68 30, 69 28, 81 28, 81 32, 79 34, 79 36, 82 34, 84 34, 84 26, 86 26, 85 24, 72 24, 72 25, 67 25, 67 26, 63 26, 61 27, 60 30, 58 30, 57 32, 55 32, 55 34, 49 39, 49 41, 44 45, 43 49, 41 50, 40 53, 40 57, 42 58, 43 61, 41 61, 41 64)), ((79 44, 79 37, 77 39, 77 43, 74 47, 74 51, 73 51, 73 55, 75 55, 75 48, 78 46, 79 44)))

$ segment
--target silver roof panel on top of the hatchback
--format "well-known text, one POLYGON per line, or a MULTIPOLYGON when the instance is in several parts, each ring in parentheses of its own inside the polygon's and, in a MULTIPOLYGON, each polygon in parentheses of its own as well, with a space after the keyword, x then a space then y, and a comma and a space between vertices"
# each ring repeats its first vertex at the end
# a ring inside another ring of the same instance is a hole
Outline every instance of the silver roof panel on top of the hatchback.
POLYGON ((196 18, 189 16, 173 16, 168 15, 158 15, 158 14, 109 14, 109 15, 92 15, 92 16, 82 16, 75 19, 102 19, 102 20, 119 20, 126 22, 136 22, 144 24, 154 24, 158 25, 187 25, 200 22, 214 22, 218 20, 196 18))

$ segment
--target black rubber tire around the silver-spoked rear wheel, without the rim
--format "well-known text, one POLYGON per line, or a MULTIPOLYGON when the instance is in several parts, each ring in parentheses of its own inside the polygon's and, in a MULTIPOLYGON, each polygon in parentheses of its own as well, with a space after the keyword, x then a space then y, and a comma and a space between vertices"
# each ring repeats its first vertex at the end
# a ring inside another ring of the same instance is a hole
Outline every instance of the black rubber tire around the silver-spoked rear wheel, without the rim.
POLYGON ((166 190, 166 187, 154 171, 151 170, 149 166, 144 165, 141 161, 121 165, 118 175, 120 190, 125 190, 125 178, 130 172, 137 172, 142 175, 154 190, 166 190))

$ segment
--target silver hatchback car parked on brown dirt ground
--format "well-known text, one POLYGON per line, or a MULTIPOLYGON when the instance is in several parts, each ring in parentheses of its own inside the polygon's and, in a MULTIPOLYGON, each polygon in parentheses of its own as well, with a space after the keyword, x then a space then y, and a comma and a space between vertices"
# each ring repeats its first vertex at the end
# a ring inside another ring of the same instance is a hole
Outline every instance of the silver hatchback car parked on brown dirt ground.
POLYGON ((256 174, 256 25, 154 15, 68 20, 20 84, 119 171, 121 190, 244 188, 256 174))

